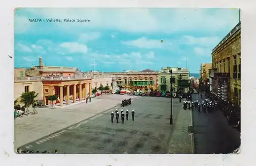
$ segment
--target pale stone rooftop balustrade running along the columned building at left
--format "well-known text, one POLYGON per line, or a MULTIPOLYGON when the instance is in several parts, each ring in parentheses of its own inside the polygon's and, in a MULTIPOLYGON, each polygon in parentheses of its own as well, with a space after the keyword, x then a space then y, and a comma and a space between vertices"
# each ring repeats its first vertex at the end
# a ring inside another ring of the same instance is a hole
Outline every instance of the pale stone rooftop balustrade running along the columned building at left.
POLYGON ((116 76, 65 76, 65 77, 15 77, 14 82, 29 82, 29 81, 60 81, 60 80, 83 80, 83 79, 101 79, 101 78, 112 78, 117 79, 116 76))

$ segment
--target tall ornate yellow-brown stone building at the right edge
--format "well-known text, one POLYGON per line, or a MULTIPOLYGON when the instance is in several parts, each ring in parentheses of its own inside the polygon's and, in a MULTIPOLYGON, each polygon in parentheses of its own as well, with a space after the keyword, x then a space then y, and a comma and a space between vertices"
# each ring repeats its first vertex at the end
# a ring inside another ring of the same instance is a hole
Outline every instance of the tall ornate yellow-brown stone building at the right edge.
POLYGON ((241 103, 241 22, 212 50, 213 91, 240 107, 241 103))

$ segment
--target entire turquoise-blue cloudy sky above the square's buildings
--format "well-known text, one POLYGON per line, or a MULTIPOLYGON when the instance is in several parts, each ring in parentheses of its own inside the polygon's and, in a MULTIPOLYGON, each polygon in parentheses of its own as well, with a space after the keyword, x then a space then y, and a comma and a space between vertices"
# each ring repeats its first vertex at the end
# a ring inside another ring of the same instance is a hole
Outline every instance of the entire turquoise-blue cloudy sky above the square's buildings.
POLYGON ((237 25, 239 11, 217 8, 19 8, 14 66, 79 67, 104 72, 186 67, 199 73, 211 50, 237 25), (29 22, 29 19, 41 22, 29 22), (47 22, 46 19, 61 22, 47 22), (64 22, 63 19, 76 22, 64 22), (90 19, 90 22, 77 22, 90 19), (163 42, 161 42, 163 40, 163 42))

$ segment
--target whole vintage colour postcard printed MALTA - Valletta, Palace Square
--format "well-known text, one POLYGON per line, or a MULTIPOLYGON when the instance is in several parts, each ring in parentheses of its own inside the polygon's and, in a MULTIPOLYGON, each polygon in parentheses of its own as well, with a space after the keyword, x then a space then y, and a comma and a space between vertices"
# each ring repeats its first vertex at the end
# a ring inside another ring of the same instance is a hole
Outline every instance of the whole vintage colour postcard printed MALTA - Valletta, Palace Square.
POLYGON ((16 8, 15 152, 239 152, 240 13, 16 8))

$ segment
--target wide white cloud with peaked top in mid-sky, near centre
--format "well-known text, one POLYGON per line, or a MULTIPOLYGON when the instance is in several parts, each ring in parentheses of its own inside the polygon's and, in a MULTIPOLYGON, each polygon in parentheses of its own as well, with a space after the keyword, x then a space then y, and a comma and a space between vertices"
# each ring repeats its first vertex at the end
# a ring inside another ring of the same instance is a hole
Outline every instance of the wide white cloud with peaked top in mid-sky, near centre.
POLYGON ((137 48, 146 48, 146 49, 163 48, 163 46, 165 45, 163 42, 161 42, 161 40, 152 40, 152 39, 147 39, 145 37, 139 38, 137 40, 121 41, 121 43, 124 45, 135 46, 137 48))

